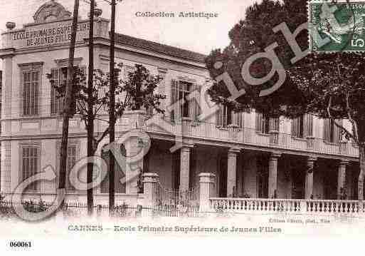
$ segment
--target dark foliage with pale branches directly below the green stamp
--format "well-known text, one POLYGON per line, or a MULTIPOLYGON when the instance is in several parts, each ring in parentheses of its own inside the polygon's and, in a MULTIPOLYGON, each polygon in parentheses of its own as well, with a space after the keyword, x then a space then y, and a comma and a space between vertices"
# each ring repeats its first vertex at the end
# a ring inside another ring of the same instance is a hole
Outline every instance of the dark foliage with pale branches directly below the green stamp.
POLYGON ((365 143, 364 61, 362 53, 310 54, 288 71, 292 86, 304 96, 303 111, 348 119, 352 129, 341 126, 343 133, 359 145, 365 143))

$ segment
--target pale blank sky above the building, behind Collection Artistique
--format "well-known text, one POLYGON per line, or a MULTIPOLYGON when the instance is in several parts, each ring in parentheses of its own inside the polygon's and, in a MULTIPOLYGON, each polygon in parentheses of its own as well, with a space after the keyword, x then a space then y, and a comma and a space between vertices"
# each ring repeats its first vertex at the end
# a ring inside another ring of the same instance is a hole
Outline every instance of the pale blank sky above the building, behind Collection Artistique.
MULTIPOLYGON (((80 0, 80 16, 86 19, 88 0, 80 0)), ((110 5, 97 1, 102 17, 110 19, 110 5)), ((213 48, 228 46, 228 31, 245 16, 245 9, 255 0, 123 0, 117 4, 116 31, 140 39, 208 54, 213 48), (137 12, 174 12, 175 18, 137 17, 137 12), (180 12, 218 13, 217 18, 181 18, 180 12)), ((73 11, 74 0, 58 0, 68 11, 73 11)), ((0 31, 6 21, 23 24, 33 22, 33 15, 46 0, 0 0, 0 31)), ((1 66, 0 66, 1 67, 1 66)))

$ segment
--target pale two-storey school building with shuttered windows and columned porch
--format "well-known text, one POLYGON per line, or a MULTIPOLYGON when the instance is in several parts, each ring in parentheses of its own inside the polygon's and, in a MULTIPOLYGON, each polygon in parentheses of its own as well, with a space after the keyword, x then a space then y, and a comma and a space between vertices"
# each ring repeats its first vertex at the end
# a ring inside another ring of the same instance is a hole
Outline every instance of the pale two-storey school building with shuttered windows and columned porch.
MULTIPOLYGON (((62 101, 56 97, 46 74, 65 79, 70 43, 71 14, 51 1, 41 6, 34 22, 14 28, 6 24, 0 58, 1 88, 1 193, 48 165, 58 169, 62 101)), ((88 66, 88 20, 80 20, 75 65, 88 66)), ((109 69, 109 21, 95 19, 95 68, 109 69)), ((307 115, 295 120, 270 118, 261 113, 234 113, 220 106, 203 121, 213 105, 206 97, 211 78, 200 53, 117 34, 115 57, 123 63, 122 76, 135 64, 164 79, 157 88, 166 95, 163 116, 126 111, 117 121, 116 137, 135 125, 146 131, 151 148, 140 166, 157 173, 166 190, 199 191, 199 173, 216 176, 220 198, 357 198, 358 149, 344 140, 334 123, 307 115), (168 108, 189 93, 197 93, 178 107, 168 108), (152 116, 152 117, 151 117, 152 116), (179 138, 180 147, 171 152, 179 138)), ((105 113, 102 118, 107 118, 105 113)), ((344 125, 347 126, 347 121, 344 125)), ((95 121, 96 133, 107 123, 95 121)), ((86 155, 84 123, 70 120, 68 168, 86 155)), ((100 143, 104 145, 108 139, 100 143)), ((102 155, 102 150, 97 151, 102 155)), ((117 180, 124 177, 122 172, 117 180)), ((127 174, 126 174, 127 175, 127 174)), ((26 195, 53 197, 57 180, 32 183, 26 195)), ((107 181, 95 188, 95 200, 107 200, 107 181)), ((137 180, 117 183, 117 201, 136 201, 137 180)), ((69 200, 84 200, 85 191, 68 184, 69 200)))

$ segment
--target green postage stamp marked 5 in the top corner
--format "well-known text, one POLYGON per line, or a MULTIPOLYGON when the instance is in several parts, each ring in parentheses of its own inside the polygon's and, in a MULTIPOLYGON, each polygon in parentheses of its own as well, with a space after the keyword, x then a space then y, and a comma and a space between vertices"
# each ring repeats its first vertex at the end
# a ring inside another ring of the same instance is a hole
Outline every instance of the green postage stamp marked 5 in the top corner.
POLYGON ((311 52, 365 51, 365 1, 309 2, 311 52))

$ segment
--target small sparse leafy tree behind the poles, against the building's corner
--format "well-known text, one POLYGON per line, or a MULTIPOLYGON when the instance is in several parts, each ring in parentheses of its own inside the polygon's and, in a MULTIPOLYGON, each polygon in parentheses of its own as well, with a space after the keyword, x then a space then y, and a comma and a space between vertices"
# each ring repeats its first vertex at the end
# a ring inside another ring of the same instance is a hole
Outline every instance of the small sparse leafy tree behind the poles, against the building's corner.
MULTIPOLYGON (((118 64, 116 72, 120 73, 122 63, 118 64)), ((53 88, 58 93, 58 97, 65 96, 65 84, 55 83, 51 74, 48 74, 53 88)), ((160 100, 166 98, 154 90, 162 80, 160 76, 154 76, 149 73, 147 68, 142 65, 135 65, 135 70, 128 74, 127 79, 117 78, 115 86, 115 94, 117 101, 115 103, 116 120, 121 118, 126 109, 139 110, 140 108, 153 108, 157 113, 164 113, 159 108, 160 100)), ((99 120, 109 123, 108 120, 102 119, 107 113, 110 106, 109 91, 109 73, 105 73, 100 69, 95 69, 92 79, 92 91, 86 81, 85 71, 81 68, 74 68, 74 84, 73 84, 73 116, 78 116, 85 123, 85 129, 94 126, 94 122, 99 120)), ((93 130, 93 129, 92 129, 93 130)), ((88 152, 88 157, 95 155, 100 142, 109 135, 109 127, 105 128, 100 134, 92 135, 92 150, 88 152)))

